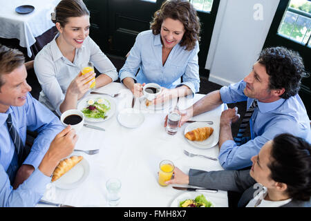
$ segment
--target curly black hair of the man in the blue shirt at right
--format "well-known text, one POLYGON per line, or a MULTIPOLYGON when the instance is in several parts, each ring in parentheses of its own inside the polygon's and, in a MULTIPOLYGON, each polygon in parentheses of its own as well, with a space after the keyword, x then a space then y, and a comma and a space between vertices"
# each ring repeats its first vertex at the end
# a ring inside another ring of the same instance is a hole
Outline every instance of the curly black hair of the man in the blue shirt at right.
POLYGON ((269 75, 269 89, 284 88, 280 96, 288 99, 299 92, 301 78, 305 77, 303 59, 298 52, 284 47, 265 48, 261 51, 258 62, 265 66, 269 75))

